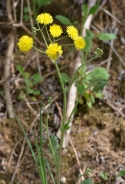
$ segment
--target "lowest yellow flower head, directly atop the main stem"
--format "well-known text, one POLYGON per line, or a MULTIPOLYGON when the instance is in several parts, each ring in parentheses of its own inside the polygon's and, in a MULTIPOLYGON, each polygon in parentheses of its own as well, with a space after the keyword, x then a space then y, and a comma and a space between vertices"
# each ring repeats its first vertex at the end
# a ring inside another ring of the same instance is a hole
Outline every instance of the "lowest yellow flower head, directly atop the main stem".
POLYGON ((57 60, 59 55, 61 55, 62 53, 62 47, 57 43, 50 43, 46 50, 47 56, 53 60, 57 60))

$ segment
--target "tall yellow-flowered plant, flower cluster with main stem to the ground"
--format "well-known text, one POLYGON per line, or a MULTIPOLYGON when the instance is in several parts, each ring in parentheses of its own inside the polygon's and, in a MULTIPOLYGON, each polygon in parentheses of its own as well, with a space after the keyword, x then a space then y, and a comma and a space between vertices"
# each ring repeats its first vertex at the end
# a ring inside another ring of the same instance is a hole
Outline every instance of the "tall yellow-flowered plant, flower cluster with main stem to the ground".
MULTIPOLYGON (((36 18, 36 21, 37 21, 38 28, 34 27, 33 33, 36 34, 37 31, 40 31, 42 38, 43 38, 45 45, 46 45, 46 50, 42 51, 42 50, 39 50, 38 48, 36 48, 33 45, 33 38, 26 36, 26 35, 22 36, 19 39, 18 47, 19 47, 20 51, 22 51, 22 52, 28 52, 32 48, 34 48, 34 49, 38 50, 39 52, 46 54, 51 59, 53 64, 55 65, 57 75, 58 75, 59 81, 61 83, 61 87, 62 87, 62 91, 63 91, 63 118, 62 118, 62 127, 61 127, 61 138, 60 138, 60 144, 59 144, 57 154, 55 154, 55 150, 52 147, 52 144, 51 144, 51 141, 50 141, 50 138, 48 135, 49 146, 50 146, 53 160, 54 160, 55 166, 56 166, 56 184, 60 184, 60 165, 61 165, 62 144, 63 144, 65 132, 67 131, 67 128, 68 128, 68 126, 65 126, 66 125, 66 103, 67 103, 66 98, 67 98, 68 90, 67 90, 67 88, 65 88, 65 85, 64 85, 59 67, 58 67, 58 63, 56 61, 63 54, 63 45, 58 43, 58 41, 61 40, 62 38, 58 38, 58 37, 60 37, 64 31, 60 25, 57 25, 57 24, 49 25, 49 24, 53 23, 53 17, 49 13, 42 13, 42 14, 38 15, 36 18), (42 24, 42 27, 41 27, 41 24, 42 24), (47 38, 44 36, 43 31, 46 31, 47 38)), ((85 45, 86 45, 85 40, 81 36, 79 36, 78 30, 74 26, 68 26, 66 28, 65 32, 68 34, 67 36, 72 39, 72 41, 73 41, 72 45, 74 45, 77 50, 85 48, 85 45)), ((64 46, 66 46, 66 45, 64 45, 64 46)), ((68 46, 68 44, 67 44, 67 46, 68 46)), ((54 139, 56 139, 56 138, 54 138, 54 139)), ((55 142, 54 142, 54 144, 55 144, 55 142)), ((55 148, 56 148, 56 146, 55 146, 55 148)), ((42 150, 42 149, 40 149, 40 150, 42 150)), ((41 153, 39 155, 41 155, 41 153)), ((40 163, 41 163, 42 159, 43 158, 40 158, 40 163)), ((36 159, 34 159, 34 160, 36 161, 36 159)), ((40 164, 40 166, 41 166, 41 164, 40 164)), ((46 173, 44 173, 44 171, 46 171, 46 169, 44 169, 44 167, 45 167, 45 163, 43 161, 42 167, 38 166, 38 170, 40 173, 39 175, 41 177, 42 183, 47 184, 48 182, 46 182, 47 181, 46 173)), ((54 177, 52 176, 52 172, 51 172, 51 177, 54 180, 54 177)), ((55 182, 54 182, 54 184, 55 184, 55 182)))

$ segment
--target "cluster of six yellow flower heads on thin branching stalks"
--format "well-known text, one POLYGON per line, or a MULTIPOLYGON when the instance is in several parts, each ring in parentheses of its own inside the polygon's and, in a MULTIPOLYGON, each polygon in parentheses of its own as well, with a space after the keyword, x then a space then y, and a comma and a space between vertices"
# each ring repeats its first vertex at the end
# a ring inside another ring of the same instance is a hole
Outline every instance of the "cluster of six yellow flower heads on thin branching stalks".
MULTIPOLYGON (((62 27, 60 25, 57 25, 57 24, 53 24, 53 25, 50 25, 48 27, 49 24, 53 23, 53 17, 49 13, 42 13, 42 14, 38 15, 36 18, 36 21, 37 21, 38 29, 36 29, 36 28, 34 28, 34 29, 35 29, 35 31, 40 31, 40 29, 41 29, 42 37, 43 37, 43 40, 45 41, 45 44, 47 47, 46 50, 40 51, 39 49, 37 49, 33 45, 33 38, 29 37, 27 35, 24 35, 19 39, 18 47, 19 47, 20 51, 22 51, 22 52, 28 52, 32 48, 34 48, 34 49, 46 54, 51 60, 56 61, 58 59, 59 55, 62 55, 62 53, 63 53, 63 50, 62 50, 63 46, 59 45, 54 38, 61 36, 61 34, 63 33, 62 27), (40 24, 43 25, 42 28, 40 28, 40 24), (50 43, 47 42, 48 39, 46 39, 44 36, 43 28, 46 29, 50 43), (51 39, 51 37, 53 39, 51 39)), ((81 49, 85 48, 85 45, 86 45, 85 40, 81 36, 79 36, 77 28, 75 28, 74 26, 67 26, 66 32, 68 34, 67 36, 73 40, 74 43, 72 45, 74 45, 77 50, 81 50, 81 49)))

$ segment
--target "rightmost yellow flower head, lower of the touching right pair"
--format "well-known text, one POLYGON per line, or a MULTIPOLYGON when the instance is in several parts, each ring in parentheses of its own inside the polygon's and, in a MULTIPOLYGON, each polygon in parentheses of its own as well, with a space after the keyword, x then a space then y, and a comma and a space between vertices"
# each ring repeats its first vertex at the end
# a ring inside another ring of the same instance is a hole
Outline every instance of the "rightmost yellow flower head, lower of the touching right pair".
POLYGON ((86 46, 86 42, 81 36, 77 37, 74 44, 77 50, 83 49, 86 46))

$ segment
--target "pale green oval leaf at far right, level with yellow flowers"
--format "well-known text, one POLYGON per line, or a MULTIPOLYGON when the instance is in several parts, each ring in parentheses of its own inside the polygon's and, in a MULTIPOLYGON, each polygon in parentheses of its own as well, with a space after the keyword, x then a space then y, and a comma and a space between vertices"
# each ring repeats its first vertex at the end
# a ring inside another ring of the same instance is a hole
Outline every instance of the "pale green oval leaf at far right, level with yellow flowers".
POLYGON ((96 37, 98 37, 99 40, 102 40, 102 41, 109 41, 109 40, 116 39, 116 35, 113 33, 100 33, 96 35, 96 37))

